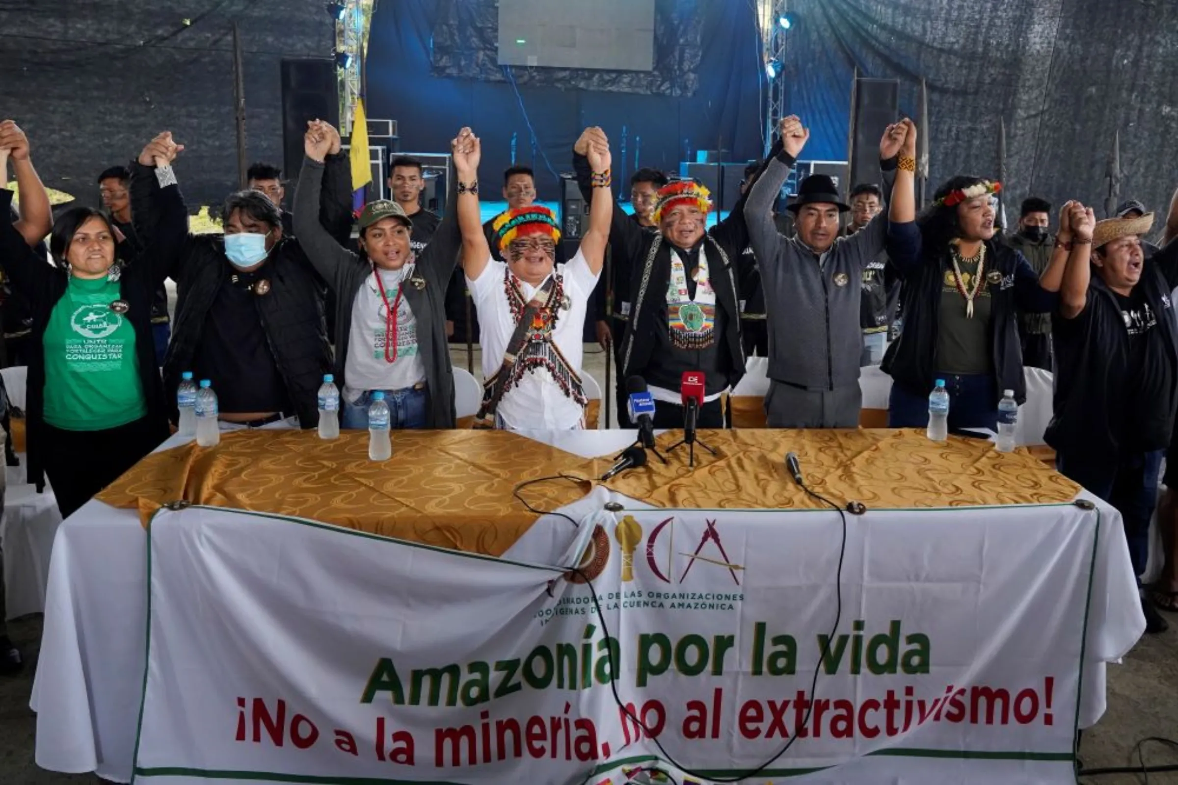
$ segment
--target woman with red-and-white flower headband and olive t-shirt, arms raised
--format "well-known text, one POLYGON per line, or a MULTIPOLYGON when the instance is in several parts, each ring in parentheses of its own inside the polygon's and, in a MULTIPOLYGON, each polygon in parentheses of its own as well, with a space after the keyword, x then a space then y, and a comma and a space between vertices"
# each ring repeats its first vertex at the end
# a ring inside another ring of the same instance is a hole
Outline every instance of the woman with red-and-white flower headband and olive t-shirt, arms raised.
MULTIPOLYGON (((915 154, 915 137, 909 126, 901 155, 915 154)), ((893 380, 888 426, 925 427, 928 393, 944 379, 949 427, 995 431, 1004 391, 1026 400, 1017 313, 1048 312, 1057 298, 1020 253, 994 241, 1000 184, 952 178, 916 218, 913 181, 911 168, 898 172, 889 207, 888 257, 902 281, 904 332, 882 364, 893 380)), ((1043 273, 1057 288, 1066 257, 1057 250, 1043 273)))

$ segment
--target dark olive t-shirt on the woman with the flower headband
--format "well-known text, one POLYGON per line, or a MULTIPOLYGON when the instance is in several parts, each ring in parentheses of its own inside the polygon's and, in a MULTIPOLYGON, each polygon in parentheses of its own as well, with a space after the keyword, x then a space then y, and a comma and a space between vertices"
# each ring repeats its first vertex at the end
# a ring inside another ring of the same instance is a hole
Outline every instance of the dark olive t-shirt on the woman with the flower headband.
MULTIPOLYGON (((977 274, 977 262, 961 264, 961 277, 965 279, 967 292, 973 290, 973 279, 977 274)), ((959 375, 993 373, 990 311, 990 285, 982 281, 981 290, 973 300, 973 319, 966 318, 966 301, 958 291, 953 268, 945 271, 945 280, 941 282, 940 324, 937 328, 938 373, 959 375)))

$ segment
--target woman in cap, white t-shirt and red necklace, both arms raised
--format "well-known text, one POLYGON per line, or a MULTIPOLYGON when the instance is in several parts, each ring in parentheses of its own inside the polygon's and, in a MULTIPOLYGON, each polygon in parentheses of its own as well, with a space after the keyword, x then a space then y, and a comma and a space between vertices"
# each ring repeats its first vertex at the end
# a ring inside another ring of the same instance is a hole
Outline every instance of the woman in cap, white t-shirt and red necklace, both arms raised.
MULTIPOLYGON (((412 224, 393 201, 369 202, 359 218, 360 254, 342 248, 320 226, 324 158, 339 133, 312 122, 294 194, 294 231, 307 258, 338 298, 336 382, 342 388, 344 428, 368 428, 372 393, 389 404, 393 428, 455 427, 454 377, 445 334, 446 282, 464 242, 458 213, 478 225, 478 148, 470 128, 451 141, 445 218, 425 250, 415 255, 412 224), (350 306, 348 304, 351 304, 350 306)), ((478 227, 482 240, 482 228, 478 227)), ((485 242, 485 240, 484 240, 485 242)))

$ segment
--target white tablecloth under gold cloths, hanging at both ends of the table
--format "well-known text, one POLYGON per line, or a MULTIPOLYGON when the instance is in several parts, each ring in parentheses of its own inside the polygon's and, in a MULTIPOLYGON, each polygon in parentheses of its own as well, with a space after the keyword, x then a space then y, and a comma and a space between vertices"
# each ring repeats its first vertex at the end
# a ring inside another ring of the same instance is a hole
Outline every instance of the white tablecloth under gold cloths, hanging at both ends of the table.
MULTIPOLYGON (((529 433, 583 457, 608 455, 633 431, 529 433)), ((161 448, 183 440, 173 438, 161 448)), ((587 501, 577 503, 583 505, 587 501)), ((1120 514, 1101 510, 1084 665, 1080 726, 1105 711, 1105 664, 1145 630, 1120 514)), ((130 781, 147 628, 147 538, 131 510, 91 501, 58 530, 37 680, 37 764, 130 781)))

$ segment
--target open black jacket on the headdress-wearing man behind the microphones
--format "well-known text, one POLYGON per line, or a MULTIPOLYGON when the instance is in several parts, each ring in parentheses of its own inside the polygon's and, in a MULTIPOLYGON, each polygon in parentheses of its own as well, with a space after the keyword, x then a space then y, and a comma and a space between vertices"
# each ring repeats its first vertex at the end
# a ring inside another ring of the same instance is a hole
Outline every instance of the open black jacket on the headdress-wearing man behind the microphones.
MULTIPOLYGON (((589 159, 574 153, 573 166, 577 173, 577 185, 587 201, 593 199, 593 169, 589 159)), ((721 365, 728 374, 728 385, 735 387, 744 375, 744 348, 741 345, 740 287, 739 280, 750 274, 752 255, 744 255, 748 247, 748 227, 744 225, 744 195, 733 207, 728 217, 708 229, 703 238, 707 247, 712 286, 716 292, 716 306, 723 308, 727 330, 720 337, 721 365)), ((629 270, 630 277, 624 292, 633 301, 626 334, 618 353, 621 368, 618 377, 644 375, 650 355, 659 341, 656 330, 667 330, 657 319, 670 284, 670 242, 660 233, 638 225, 617 204, 609 229, 609 251, 618 271, 629 270), (657 245, 657 248, 655 246, 657 245), (651 248, 654 253, 651 253, 651 248)), ((621 286, 618 287, 622 288, 621 286)), ((615 292, 615 298, 617 297, 615 292)), ((684 368, 684 371, 691 368, 684 368)))

